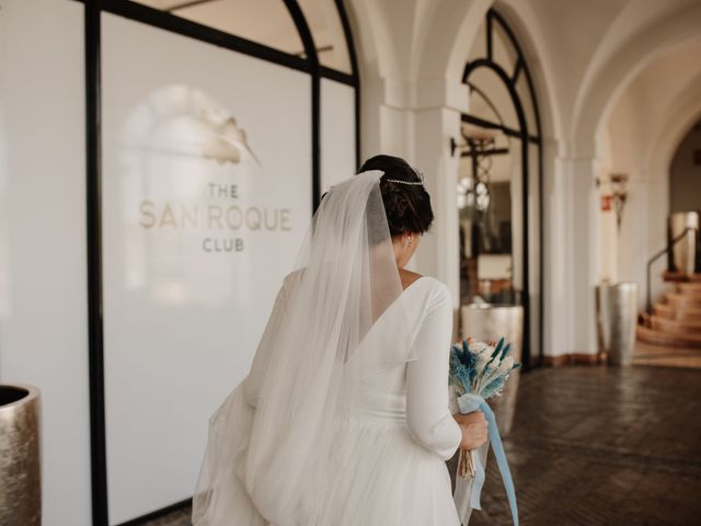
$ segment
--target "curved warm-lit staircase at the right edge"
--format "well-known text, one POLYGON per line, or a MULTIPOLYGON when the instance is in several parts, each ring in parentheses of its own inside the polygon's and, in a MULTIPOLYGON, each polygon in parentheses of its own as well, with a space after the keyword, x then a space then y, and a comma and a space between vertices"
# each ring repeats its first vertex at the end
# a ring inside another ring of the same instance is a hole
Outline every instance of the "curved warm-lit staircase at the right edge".
POLYGON ((654 306, 652 315, 641 315, 637 340, 653 345, 701 348, 701 274, 678 276, 665 274, 675 283, 654 306))

